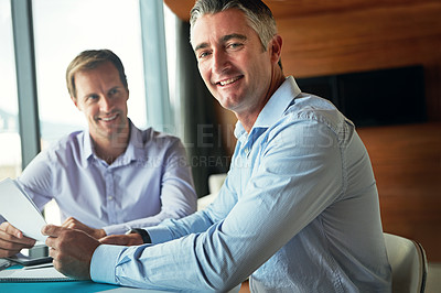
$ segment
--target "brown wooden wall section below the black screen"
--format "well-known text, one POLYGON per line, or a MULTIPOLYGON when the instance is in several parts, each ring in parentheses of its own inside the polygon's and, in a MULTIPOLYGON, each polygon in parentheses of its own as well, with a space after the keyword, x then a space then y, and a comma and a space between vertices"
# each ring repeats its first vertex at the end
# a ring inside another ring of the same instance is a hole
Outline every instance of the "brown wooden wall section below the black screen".
POLYGON ((441 122, 362 128, 385 231, 422 243, 441 262, 441 122))

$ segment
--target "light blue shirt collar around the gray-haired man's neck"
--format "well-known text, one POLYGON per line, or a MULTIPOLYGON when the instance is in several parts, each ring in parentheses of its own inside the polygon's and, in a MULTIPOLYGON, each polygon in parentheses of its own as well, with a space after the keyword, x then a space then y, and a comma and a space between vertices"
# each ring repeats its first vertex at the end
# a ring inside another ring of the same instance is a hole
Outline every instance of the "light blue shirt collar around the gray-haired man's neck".
MULTIPOLYGON (((288 106, 292 102, 292 98, 299 95, 300 88, 295 83, 294 77, 288 76, 283 84, 272 94, 263 109, 260 111, 256 119, 252 129, 255 128, 269 128, 272 126, 287 110, 288 106)), ((252 131, 251 129, 251 131, 252 131)), ((251 133, 250 131, 250 133, 251 133)), ((245 128, 237 121, 235 129, 235 137, 238 139, 245 132, 245 128)))

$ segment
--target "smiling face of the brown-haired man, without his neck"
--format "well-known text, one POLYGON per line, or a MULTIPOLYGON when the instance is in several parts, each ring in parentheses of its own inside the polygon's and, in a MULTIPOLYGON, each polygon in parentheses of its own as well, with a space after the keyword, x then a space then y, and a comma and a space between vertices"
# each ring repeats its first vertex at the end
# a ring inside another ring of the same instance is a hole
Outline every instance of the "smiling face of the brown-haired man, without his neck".
POLYGON ((75 74, 75 106, 84 112, 95 141, 116 138, 128 128, 129 91, 122 85, 115 65, 103 63, 75 74))

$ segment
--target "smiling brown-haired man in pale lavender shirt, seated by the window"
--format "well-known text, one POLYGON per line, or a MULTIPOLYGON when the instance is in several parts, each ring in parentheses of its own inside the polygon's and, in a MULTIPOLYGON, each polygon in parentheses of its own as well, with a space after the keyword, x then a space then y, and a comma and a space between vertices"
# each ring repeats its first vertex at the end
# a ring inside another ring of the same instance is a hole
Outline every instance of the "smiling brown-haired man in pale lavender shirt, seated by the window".
MULTIPOLYGON (((36 206, 54 198, 63 226, 95 239, 194 213, 196 194, 184 146, 178 138, 140 130, 130 121, 119 57, 109 50, 85 51, 68 65, 66 79, 88 131, 62 138, 18 178, 36 206)), ((9 223, 0 225, 0 257, 34 242, 9 223)))

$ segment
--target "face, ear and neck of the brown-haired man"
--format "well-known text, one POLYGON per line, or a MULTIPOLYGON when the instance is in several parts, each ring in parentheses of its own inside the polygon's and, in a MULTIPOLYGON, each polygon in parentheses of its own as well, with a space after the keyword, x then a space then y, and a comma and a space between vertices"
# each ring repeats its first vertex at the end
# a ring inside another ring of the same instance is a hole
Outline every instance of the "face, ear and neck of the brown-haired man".
POLYGON ((96 154, 111 164, 129 141, 128 86, 111 62, 93 70, 76 72, 72 67, 67 76, 72 100, 86 117, 96 154))

